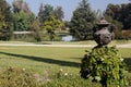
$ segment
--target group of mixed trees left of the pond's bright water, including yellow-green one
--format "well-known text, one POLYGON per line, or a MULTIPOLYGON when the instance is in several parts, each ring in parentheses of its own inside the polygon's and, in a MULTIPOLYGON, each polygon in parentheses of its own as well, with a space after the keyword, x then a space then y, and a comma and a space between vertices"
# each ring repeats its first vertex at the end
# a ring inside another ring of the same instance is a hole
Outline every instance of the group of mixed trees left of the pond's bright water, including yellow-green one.
POLYGON ((52 40, 55 30, 63 27, 64 13, 61 7, 53 9, 50 4, 40 4, 36 16, 23 0, 14 0, 10 5, 0 0, 0 40, 10 40, 13 32, 32 32, 36 41, 41 41, 43 35, 52 40))

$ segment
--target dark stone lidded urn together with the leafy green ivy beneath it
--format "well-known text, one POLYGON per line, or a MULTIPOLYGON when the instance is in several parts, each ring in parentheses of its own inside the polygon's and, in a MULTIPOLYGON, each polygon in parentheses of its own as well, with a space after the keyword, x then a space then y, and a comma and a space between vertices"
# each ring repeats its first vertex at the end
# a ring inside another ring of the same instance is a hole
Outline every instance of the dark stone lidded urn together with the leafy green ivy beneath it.
POLYGON ((124 87, 126 64, 116 47, 108 47, 115 38, 110 23, 102 18, 93 28, 93 37, 97 42, 82 59, 81 77, 100 83, 103 87, 124 87))

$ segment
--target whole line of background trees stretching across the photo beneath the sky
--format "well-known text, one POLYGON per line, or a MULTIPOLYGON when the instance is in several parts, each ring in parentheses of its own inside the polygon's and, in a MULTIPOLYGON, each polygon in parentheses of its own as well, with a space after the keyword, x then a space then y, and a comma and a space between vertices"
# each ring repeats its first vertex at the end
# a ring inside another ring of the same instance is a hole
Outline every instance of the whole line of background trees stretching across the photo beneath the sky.
POLYGON ((108 4, 100 13, 91 9, 88 0, 82 0, 73 11, 71 21, 64 22, 62 7, 41 3, 35 15, 23 0, 14 0, 11 5, 0 0, 0 40, 12 39, 13 32, 32 32, 36 41, 41 41, 43 37, 55 40, 57 33, 64 27, 70 28, 69 33, 76 40, 87 40, 92 39, 92 28, 102 16, 117 26, 117 37, 121 37, 122 29, 131 29, 131 3, 108 4))

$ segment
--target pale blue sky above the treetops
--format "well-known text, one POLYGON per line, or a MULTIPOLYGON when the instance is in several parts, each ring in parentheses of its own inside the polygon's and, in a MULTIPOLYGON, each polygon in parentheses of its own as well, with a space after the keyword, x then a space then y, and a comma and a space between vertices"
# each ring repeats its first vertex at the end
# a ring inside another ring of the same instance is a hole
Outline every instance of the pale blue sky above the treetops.
MULTIPOLYGON (((12 4, 13 0, 7 0, 12 4)), ((60 5, 64 12, 64 21, 70 21, 72 17, 73 11, 79 7, 79 3, 82 0, 24 0, 28 3, 31 10, 37 15, 39 11, 40 3, 50 4, 53 8, 60 5)), ((109 3, 121 4, 129 3, 131 0, 88 0, 88 3, 92 10, 102 10, 104 11, 109 3)))

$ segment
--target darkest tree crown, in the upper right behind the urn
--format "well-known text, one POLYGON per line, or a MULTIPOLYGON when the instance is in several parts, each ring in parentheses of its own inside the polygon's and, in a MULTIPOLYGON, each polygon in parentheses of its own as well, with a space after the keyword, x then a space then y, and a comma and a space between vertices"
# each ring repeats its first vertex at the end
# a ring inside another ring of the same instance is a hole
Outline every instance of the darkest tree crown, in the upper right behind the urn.
POLYGON ((131 28, 131 3, 108 4, 105 14, 122 23, 122 29, 131 28))

